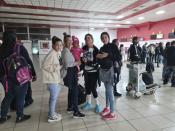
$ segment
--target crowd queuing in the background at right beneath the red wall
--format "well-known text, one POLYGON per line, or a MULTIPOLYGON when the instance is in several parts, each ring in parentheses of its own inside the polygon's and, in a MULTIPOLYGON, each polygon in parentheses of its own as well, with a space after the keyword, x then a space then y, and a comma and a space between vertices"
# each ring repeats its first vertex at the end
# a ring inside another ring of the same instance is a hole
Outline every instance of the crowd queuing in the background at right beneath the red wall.
POLYGON ((163 84, 168 84, 171 78, 171 87, 175 87, 175 41, 167 42, 165 48, 161 42, 156 45, 145 43, 141 48, 137 37, 133 37, 132 43, 128 49, 130 61, 137 63, 157 63, 157 67, 162 63, 163 84))

